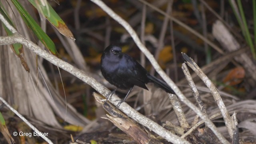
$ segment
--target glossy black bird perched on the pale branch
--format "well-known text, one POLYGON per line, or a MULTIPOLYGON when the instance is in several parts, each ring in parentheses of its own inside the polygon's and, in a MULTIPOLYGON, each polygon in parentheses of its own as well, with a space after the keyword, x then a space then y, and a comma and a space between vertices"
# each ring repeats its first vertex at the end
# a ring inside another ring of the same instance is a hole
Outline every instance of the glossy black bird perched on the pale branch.
MULTIPOLYGON (((151 76, 134 58, 122 53, 122 48, 119 46, 110 45, 104 50, 100 60, 100 70, 110 84, 120 89, 129 89, 124 100, 118 106, 126 100, 134 85, 148 90, 145 84, 153 82, 166 92, 174 94, 172 88, 165 82, 151 76)), ((110 96, 114 92, 116 90, 112 91, 110 96)))

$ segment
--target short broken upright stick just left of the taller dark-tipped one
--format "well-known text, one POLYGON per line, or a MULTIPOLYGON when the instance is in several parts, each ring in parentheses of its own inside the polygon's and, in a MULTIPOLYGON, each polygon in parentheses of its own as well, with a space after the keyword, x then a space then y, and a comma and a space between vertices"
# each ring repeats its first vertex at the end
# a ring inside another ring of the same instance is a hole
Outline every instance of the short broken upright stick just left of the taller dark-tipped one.
MULTIPOLYGON (((204 106, 204 103, 202 102, 202 99, 201 97, 199 96, 199 92, 198 90, 196 89, 196 85, 188 71, 188 68, 186 66, 186 64, 182 64, 182 70, 183 70, 183 73, 185 74, 186 76, 186 79, 188 80, 188 85, 190 86, 191 90, 192 90, 192 93, 193 93, 193 96, 195 97, 196 99, 196 102, 198 104, 198 106, 200 107, 200 110, 208 117, 208 114, 206 112, 206 108, 204 106)), ((196 116, 196 118, 194 119, 193 123, 192 124, 196 124, 198 122, 199 118, 198 116, 196 116)))

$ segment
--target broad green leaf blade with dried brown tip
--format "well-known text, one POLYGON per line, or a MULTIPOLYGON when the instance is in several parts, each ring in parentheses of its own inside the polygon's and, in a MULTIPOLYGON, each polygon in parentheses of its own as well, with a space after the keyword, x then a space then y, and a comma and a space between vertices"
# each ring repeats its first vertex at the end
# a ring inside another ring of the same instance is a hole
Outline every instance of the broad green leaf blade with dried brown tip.
POLYGON ((28 0, 44 17, 64 36, 75 40, 72 32, 66 26, 65 22, 54 11, 47 0, 28 0))

